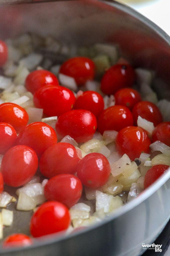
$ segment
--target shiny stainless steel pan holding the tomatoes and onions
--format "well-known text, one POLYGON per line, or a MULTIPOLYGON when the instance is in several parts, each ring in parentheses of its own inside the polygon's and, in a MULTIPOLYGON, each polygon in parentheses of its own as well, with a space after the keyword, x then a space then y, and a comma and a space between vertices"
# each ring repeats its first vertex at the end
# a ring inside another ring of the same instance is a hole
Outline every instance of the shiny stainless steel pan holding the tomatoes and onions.
MULTIPOLYGON (((10 1, 12 2, 12 1, 10 1)), ((24 2, 24 1, 23 1, 24 2)), ((3 1, 4 3, 4 1, 3 1)), ((0 37, 32 31, 62 42, 117 43, 134 67, 156 72, 155 90, 170 98, 169 36, 134 10, 114 1, 58 1, 0 6, 0 37)), ((170 217, 170 172, 113 216, 69 236, 37 239, 32 247, 1 249, 4 256, 137 256, 158 236, 170 217)), ((16 212, 17 232, 29 230, 31 213, 16 212), (25 216, 25 217, 24 217, 25 216)), ((5 232, 9 229, 6 228, 5 232)))

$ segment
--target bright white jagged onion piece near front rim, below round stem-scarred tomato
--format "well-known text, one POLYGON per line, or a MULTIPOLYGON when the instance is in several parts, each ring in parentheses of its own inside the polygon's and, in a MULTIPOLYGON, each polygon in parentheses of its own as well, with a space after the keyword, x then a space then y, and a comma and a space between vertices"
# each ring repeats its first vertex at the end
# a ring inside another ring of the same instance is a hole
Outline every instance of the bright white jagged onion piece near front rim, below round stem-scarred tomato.
POLYGON ((96 190, 96 210, 104 208, 104 212, 109 212, 112 198, 112 195, 96 190))

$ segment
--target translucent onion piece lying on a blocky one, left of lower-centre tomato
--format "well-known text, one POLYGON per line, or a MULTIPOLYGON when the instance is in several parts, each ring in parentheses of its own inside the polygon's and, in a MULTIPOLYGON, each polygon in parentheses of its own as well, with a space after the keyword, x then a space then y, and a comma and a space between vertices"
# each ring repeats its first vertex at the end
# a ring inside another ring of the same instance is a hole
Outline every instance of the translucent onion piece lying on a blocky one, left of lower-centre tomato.
POLYGON ((20 195, 21 192, 24 192, 30 197, 43 195, 44 194, 44 188, 41 183, 33 183, 28 184, 27 186, 18 188, 16 191, 17 195, 20 195))

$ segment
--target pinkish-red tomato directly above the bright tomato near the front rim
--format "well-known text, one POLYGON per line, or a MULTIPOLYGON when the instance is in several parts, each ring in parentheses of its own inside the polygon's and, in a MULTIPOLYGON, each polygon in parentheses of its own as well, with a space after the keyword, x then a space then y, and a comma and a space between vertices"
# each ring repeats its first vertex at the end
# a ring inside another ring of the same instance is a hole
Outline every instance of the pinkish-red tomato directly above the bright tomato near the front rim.
POLYGON ((82 183, 72 174, 60 174, 48 180, 44 187, 47 200, 59 201, 71 208, 82 195, 82 183))

